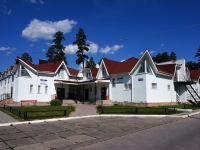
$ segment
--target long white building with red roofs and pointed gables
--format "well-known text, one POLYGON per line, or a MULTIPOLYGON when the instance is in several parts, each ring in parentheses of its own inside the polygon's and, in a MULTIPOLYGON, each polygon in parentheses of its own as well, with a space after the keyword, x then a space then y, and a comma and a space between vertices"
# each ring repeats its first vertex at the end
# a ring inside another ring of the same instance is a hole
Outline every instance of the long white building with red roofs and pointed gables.
POLYGON ((17 57, 14 66, 0 74, 0 100, 110 100, 148 106, 195 102, 199 100, 199 75, 200 71, 187 70, 184 59, 156 64, 148 50, 139 59, 103 58, 99 68, 81 71, 63 61, 40 60, 35 65, 17 57))

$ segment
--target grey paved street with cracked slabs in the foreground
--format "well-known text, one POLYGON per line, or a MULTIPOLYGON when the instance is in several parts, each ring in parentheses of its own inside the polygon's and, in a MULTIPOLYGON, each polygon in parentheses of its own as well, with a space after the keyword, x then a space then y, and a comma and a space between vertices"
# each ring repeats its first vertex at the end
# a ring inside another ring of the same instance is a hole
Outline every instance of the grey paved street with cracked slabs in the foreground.
POLYGON ((0 149, 199 149, 200 115, 92 117, 0 127, 0 149))

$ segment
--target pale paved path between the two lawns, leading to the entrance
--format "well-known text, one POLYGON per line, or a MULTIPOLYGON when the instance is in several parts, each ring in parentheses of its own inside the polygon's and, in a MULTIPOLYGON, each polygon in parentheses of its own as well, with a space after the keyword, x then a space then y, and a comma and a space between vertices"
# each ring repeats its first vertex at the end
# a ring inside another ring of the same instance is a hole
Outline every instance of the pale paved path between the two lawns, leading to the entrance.
POLYGON ((88 104, 75 104, 76 111, 70 114, 70 117, 76 116, 87 116, 87 115, 98 115, 96 110, 96 105, 88 104))

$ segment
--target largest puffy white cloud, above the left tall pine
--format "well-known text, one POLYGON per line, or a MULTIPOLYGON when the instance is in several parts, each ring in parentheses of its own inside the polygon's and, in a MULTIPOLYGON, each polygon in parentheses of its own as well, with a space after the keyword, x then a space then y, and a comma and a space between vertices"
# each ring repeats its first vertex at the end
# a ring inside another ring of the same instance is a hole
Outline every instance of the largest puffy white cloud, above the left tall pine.
POLYGON ((57 31, 62 31, 64 34, 68 33, 76 24, 76 21, 68 19, 56 22, 33 19, 22 31, 22 36, 32 41, 37 39, 53 39, 53 35, 57 31))

